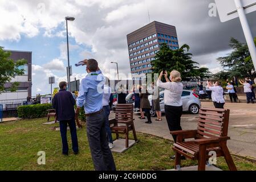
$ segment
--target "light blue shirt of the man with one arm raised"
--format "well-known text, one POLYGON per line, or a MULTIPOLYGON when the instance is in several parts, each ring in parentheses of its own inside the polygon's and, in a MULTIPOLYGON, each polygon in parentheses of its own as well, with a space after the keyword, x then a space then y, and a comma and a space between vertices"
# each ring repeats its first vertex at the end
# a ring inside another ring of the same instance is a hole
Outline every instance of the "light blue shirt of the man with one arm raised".
POLYGON ((89 73, 80 84, 79 96, 76 105, 82 107, 86 114, 100 111, 104 94, 105 77, 101 71, 89 73))

